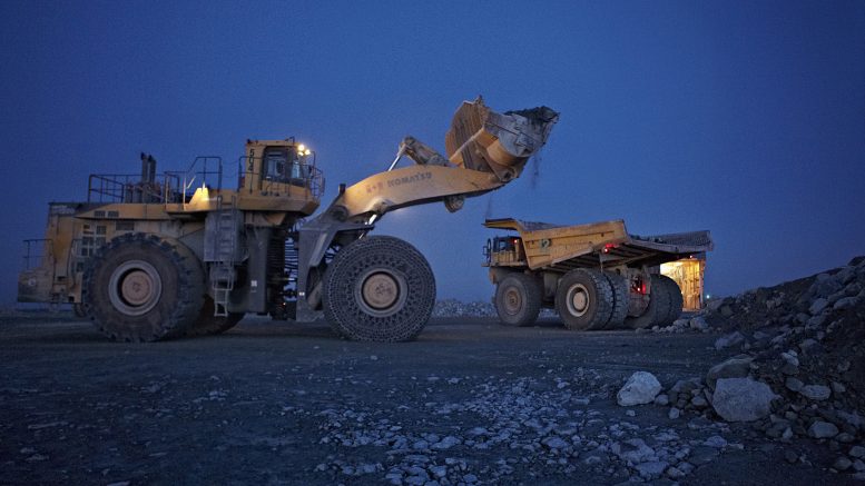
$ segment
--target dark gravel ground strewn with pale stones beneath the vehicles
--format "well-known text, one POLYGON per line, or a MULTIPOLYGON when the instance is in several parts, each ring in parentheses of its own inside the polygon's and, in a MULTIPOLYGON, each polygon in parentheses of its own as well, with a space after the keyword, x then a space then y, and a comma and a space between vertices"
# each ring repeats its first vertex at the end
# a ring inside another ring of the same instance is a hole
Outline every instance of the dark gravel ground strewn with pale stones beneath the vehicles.
POLYGON ((820 442, 711 419, 699 396, 674 418, 667 390, 736 354, 720 336, 464 317, 376 345, 248 318, 129 345, 18 313, 0 318, 0 483, 862 484, 820 442), (635 371, 665 391, 619 406, 635 371))

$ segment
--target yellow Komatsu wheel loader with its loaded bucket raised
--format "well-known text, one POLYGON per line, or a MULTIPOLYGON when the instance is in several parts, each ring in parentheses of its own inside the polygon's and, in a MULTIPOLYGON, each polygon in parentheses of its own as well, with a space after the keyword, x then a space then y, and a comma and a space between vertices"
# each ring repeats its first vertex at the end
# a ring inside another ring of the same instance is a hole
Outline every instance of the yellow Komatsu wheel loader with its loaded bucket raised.
MULTIPOLYGON (((90 176, 87 200, 51 202, 40 249, 18 299, 70 302, 107 337, 151 341, 218 334, 245 314, 311 320, 324 311, 343 337, 401 341, 432 314, 435 281, 406 241, 368 236, 389 211, 503 187, 545 142, 549 108, 499 113, 464 102, 445 136, 448 157, 406 137, 387 170, 340 186, 311 220, 324 188, 315 153, 289 138, 248 140, 236 189, 222 159, 184 172, 90 176), (397 168, 407 157, 415 163, 397 168)), ((26 261, 33 260, 26 257, 26 261)))

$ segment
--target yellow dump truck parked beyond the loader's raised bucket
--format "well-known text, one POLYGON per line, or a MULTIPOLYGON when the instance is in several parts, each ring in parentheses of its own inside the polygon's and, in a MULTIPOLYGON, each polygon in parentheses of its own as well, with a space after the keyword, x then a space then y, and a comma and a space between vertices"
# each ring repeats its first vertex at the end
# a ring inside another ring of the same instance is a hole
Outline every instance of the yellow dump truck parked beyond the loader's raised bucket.
POLYGON ((531 325, 542 307, 576 330, 666 325, 681 314, 682 295, 659 266, 712 249, 709 231, 639 237, 622 220, 556 226, 507 218, 484 226, 511 231, 484 247, 495 310, 511 326, 531 325))

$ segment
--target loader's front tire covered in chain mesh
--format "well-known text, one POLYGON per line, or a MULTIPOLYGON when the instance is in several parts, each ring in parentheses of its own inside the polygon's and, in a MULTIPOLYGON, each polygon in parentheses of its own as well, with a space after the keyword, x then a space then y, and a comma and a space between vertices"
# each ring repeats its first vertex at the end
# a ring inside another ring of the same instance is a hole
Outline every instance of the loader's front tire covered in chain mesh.
POLYGON ((324 316, 353 340, 406 341, 423 330, 435 305, 435 277, 413 246, 387 236, 353 241, 324 274, 324 316))

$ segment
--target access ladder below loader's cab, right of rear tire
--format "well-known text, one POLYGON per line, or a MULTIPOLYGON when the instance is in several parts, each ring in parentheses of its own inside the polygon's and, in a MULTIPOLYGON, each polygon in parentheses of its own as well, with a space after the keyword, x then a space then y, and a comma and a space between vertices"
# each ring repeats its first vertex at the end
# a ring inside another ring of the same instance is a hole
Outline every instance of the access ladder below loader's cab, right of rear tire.
POLYGON ((240 212, 235 198, 228 205, 223 199, 217 201, 217 209, 208 215, 210 225, 207 231, 210 255, 206 258, 213 262, 210 267, 210 285, 214 292, 214 316, 228 316, 228 297, 234 290, 236 277, 235 262, 237 257, 238 227, 240 212), (227 207, 226 207, 227 206, 227 207), (213 220, 210 220, 213 218, 213 220))

